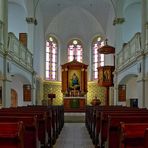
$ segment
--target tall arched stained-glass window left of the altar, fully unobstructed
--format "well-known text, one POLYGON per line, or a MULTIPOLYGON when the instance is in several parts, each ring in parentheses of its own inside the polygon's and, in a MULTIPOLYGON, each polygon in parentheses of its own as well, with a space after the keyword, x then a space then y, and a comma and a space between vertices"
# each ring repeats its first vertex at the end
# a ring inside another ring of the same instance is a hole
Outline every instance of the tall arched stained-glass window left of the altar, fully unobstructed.
POLYGON ((49 36, 46 41, 46 79, 56 80, 57 78, 57 40, 49 36))

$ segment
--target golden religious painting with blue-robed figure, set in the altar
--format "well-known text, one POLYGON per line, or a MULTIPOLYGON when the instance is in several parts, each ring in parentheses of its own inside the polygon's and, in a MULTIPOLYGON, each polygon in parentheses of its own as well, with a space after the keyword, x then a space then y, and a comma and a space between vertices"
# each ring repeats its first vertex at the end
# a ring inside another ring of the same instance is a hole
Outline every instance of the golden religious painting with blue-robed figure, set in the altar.
POLYGON ((81 82, 81 71, 80 70, 69 70, 68 85, 70 90, 80 90, 81 82))

